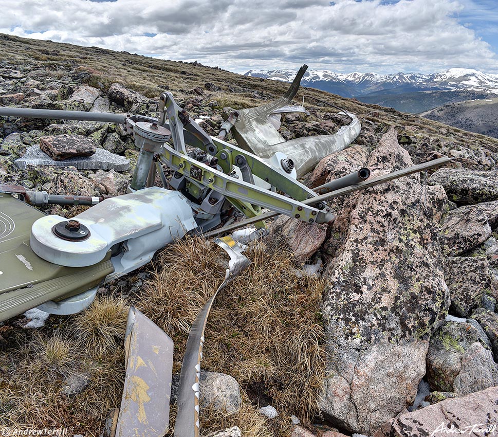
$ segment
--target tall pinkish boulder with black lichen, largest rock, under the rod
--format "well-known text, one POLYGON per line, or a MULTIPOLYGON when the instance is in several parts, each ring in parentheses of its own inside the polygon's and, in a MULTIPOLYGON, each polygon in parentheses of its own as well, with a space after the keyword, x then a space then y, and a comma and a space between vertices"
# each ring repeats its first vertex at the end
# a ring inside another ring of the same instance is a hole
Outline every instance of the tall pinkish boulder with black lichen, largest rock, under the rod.
MULTIPOLYGON (((376 177, 412 165, 390 130, 366 167, 376 177)), ((446 196, 421 192, 418 175, 361 192, 324 274, 330 360, 320 408, 349 431, 371 434, 413 403, 449 307, 437 241, 446 196)))

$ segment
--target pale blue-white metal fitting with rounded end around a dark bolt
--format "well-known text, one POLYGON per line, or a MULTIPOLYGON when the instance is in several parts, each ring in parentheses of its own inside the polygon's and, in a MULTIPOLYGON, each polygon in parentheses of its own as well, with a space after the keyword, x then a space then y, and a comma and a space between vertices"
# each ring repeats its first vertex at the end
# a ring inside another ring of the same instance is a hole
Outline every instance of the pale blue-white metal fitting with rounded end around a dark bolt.
POLYGON ((90 230, 84 241, 67 241, 52 227, 67 219, 48 215, 31 228, 31 249, 41 258, 66 267, 83 267, 102 261, 118 243, 126 247, 112 261, 109 279, 146 264, 154 252, 197 227, 187 199, 178 191, 151 187, 108 198, 73 217, 90 230))

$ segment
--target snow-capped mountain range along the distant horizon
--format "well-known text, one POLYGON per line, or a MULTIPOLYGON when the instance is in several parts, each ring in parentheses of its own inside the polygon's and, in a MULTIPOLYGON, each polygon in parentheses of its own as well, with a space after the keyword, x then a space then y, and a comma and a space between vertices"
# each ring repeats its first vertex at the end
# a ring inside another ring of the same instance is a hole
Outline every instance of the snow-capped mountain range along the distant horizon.
MULTIPOLYGON (((291 82, 296 70, 249 70, 245 76, 291 82)), ((418 73, 353 72, 307 70, 301 84, 322 89, 343 97, 373 96, 377 94, 402 94, 417 91, 472 90, 498 93, 498 74, 485 74, 468 68, 450 68, 447 71, 422 75, 418 73)))

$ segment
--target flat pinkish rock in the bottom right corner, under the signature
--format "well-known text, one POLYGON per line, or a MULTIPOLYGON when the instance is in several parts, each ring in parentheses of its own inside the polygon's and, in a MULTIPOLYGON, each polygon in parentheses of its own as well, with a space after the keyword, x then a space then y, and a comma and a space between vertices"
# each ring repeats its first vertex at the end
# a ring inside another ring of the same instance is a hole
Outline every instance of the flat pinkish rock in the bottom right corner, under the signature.
POLYGON ((492 435, 498 417, 498 387, 443 400, 387 421, 373 437, 492 435), (487 433, 486 433, 487 432, 487 433))

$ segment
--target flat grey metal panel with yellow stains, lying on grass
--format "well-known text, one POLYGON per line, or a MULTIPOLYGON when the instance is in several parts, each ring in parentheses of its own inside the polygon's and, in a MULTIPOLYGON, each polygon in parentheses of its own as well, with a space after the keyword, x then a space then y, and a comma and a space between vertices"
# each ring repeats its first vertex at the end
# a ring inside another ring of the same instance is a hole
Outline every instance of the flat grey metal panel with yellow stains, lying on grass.
POLYGON ((173 340, 133 306, 116 437, 162 437, 169 427, 173 340))

